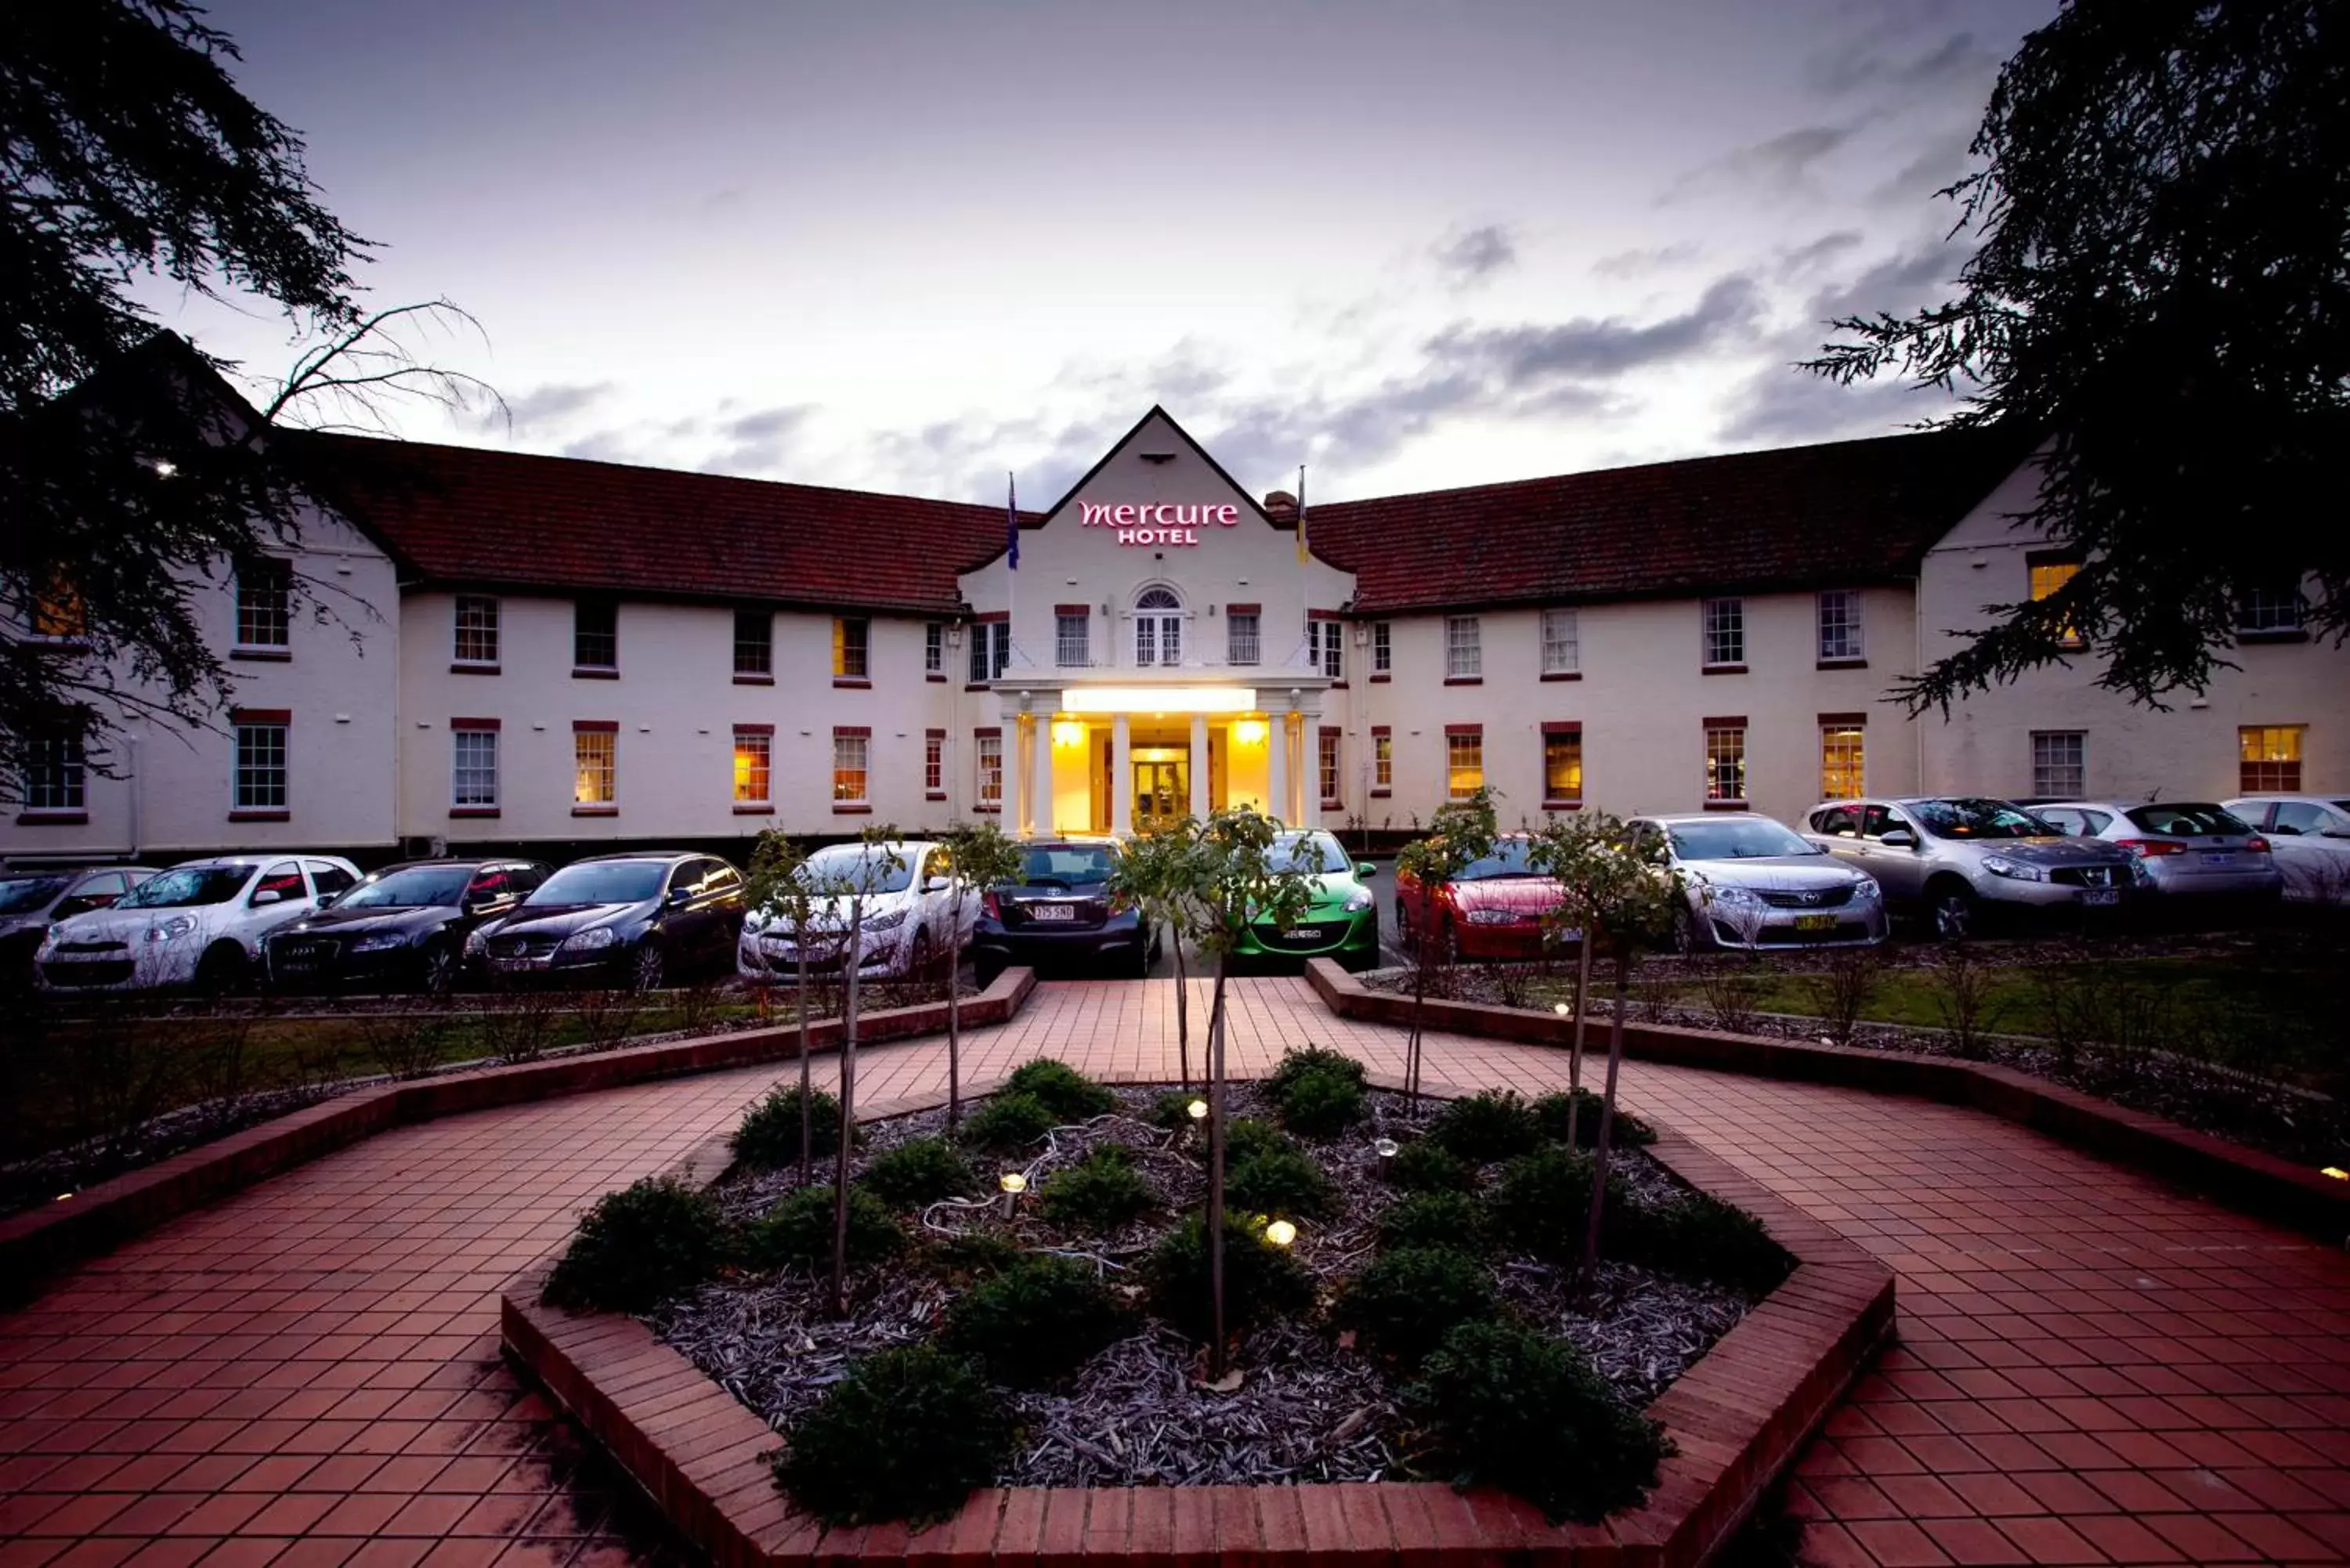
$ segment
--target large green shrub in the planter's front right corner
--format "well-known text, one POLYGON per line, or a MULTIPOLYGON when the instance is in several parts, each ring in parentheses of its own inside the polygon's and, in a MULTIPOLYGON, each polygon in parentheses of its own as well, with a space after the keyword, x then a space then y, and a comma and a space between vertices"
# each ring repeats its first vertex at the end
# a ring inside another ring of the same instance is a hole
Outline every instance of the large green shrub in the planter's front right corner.
POLYGON ((1499 1486, 1551 1519, 1598 1521, 1638 1502, 1671 1453, 1664 1427, 1617 1403, 1572 1345, 1516 1324, 1462 1324, 1403 1389, 1455 1486, 1499 1486))

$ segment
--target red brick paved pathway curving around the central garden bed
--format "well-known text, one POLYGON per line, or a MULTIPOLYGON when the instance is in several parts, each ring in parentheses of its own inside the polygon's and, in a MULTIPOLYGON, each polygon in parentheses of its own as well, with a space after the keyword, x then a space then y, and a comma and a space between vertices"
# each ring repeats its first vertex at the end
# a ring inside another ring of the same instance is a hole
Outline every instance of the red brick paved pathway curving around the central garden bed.
MULTIPOLYGON (((1194 1011, 1201 1018, 1203 1009, 1194 1011)), ((1236 987, 1234 1072, 1401 1037, 1236 987)), ((1050 985, 968 1077, 1173 1070, 1173 987, 1050 985)), ((860 1095, 935 1093, 935 1041, 860 1095)), ((402 1128, 0 1316, 0 1568, 602 1568, 672 1549, 496 1356, 496 1288, 776 1067, 402 1128)), ((830 1060, 818 1063, 830 1079, 830 1060)), ((1429 1039, 1429 1077, 1565 1058, 1429 1039)), ((1800 1460, 1802 1561, 2350 1561, 2350 1258, 1988 1117, 1629 1065, 1624 1100, 1901 1272, 1901 1345, 1800 1460)))

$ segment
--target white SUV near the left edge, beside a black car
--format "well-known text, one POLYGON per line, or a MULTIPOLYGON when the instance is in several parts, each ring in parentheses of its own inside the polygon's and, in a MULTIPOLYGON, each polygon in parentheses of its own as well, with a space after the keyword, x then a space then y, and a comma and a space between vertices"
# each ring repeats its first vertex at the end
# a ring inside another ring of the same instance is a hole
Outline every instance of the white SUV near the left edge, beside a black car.
POLYGON ((261 973, 263 936, 357 879, 336 856, 183 860, 108 910, 49 926, 33 969, 45 990, 240 990, 261 973))

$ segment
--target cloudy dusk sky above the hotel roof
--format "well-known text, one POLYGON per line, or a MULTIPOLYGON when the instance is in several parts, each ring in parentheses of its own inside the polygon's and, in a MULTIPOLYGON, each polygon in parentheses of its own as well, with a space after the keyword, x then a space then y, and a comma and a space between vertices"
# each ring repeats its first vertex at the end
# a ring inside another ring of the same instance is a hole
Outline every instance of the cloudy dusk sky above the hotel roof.
MULTIPOLYGON (((512 428, 1043 503, 1152 402, 1250 489, 1901 428, 1788 362, 1941 299, 1932 193, 2054 0, 219 0, 512 428)), ((160 301, 275 374, 273 320, 160 301)))

